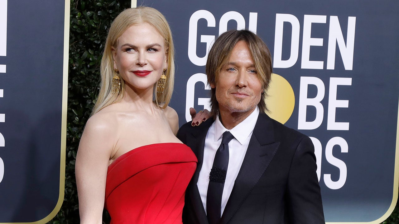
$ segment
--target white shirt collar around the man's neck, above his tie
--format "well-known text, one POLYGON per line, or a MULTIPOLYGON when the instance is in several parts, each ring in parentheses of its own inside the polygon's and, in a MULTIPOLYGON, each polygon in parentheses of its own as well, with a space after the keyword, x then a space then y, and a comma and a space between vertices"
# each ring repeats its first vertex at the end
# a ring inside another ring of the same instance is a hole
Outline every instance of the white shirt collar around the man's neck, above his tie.
POLYGON ((229 131, 237 141, 242 145, 248 136, 252 133, 255 128, 255 124, 258 120, 259 116, 259 108, 256 107, 255 110, 249 114, 247 118, 245 118, 241 123, 237 124, 231 130, 227 130, 223 124, 220 122, 219 116, 216 117, 215 120, 215 141, 222 138, 222 135, 225 131, 229 131))

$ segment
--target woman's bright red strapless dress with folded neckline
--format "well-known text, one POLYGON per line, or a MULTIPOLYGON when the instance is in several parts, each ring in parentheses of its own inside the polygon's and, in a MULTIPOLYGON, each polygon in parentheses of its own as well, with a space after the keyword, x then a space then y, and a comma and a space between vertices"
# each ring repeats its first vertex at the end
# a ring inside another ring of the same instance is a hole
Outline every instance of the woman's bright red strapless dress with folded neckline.
POLYGON ((111 224, 182 224, 196 163, 182 143, 144 145, 118 157, 108 167, 105 187, 111 224))

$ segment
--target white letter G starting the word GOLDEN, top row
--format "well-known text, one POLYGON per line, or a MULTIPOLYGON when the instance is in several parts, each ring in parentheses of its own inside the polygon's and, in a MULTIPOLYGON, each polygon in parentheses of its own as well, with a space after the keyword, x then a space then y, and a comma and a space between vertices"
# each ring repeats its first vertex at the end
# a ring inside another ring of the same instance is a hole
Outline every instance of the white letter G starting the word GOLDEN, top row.
POLYGON ((190 17, 188 28, 188 58, 194 65, 203 66, 206 64, 208 51, 211 48, 211 43, 215 39, 214 35, 201 35, 201 43, 206 43, 206 53, 203 57, 197 55, 197 31, 198 20, 205 19, 208 27, 215 27, 215 17, 207 10, 198 10, 190 17))

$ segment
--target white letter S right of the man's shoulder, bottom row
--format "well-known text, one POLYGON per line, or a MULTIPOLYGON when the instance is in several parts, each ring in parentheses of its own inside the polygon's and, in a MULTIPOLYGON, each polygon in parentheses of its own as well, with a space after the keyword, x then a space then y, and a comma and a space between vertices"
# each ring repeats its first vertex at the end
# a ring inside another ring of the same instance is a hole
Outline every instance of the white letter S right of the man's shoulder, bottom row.
POLYGON ((335 145, 341 147, 341 153, 348 153, 348 143, 341 137, 334 137, 328 141, 326 145, 326 159, 328 163, 334 165, 340 169, 340 176, 338 181, 331 179, 331 174, 324 174, 324 183, 330 189, 336 190, 344 186, 346 182, 347 168, 344 161, 337 159, 332 155, 332 149, 335 145))

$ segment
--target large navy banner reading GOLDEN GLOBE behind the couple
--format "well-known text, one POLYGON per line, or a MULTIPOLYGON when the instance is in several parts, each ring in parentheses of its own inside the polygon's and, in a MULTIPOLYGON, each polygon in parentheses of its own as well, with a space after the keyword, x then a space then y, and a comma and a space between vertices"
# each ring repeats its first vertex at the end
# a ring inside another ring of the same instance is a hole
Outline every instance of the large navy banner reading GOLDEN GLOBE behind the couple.
POLYGON ((380 223, 398 196, 399 2, 138 0, 168 20, 176 46, 171 106, 209 109, 213 40, 249 29, 269 46, 272 118, 310 136, 328 223, 380 223))

